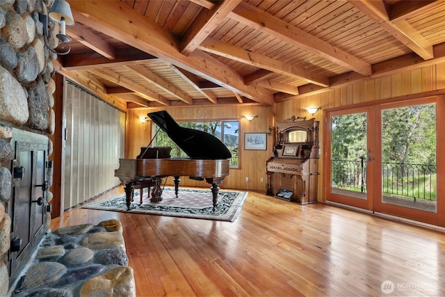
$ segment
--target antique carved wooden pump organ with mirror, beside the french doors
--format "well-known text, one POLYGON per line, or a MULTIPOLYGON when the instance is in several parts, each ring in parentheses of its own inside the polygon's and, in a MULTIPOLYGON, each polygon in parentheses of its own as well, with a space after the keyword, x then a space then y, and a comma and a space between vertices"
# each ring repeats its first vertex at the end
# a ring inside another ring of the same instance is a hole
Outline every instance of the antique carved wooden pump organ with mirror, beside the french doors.
POLYGON ((317 202, 318 125, 314 118, 291 117, 277 124, 273 156, 266 161, 266 194, 299 202, 317 202))

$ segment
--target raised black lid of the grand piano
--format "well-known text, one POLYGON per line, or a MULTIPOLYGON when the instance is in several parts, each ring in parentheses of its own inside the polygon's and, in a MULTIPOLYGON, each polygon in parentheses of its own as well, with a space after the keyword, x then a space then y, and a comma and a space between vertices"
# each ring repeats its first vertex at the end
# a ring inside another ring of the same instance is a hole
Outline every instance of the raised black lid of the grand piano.
POLYGON ((230 159, 232 154, 215 136, 200 130, 181 127, 167 111, 148 113, 164 132, 192 159, 230 159))

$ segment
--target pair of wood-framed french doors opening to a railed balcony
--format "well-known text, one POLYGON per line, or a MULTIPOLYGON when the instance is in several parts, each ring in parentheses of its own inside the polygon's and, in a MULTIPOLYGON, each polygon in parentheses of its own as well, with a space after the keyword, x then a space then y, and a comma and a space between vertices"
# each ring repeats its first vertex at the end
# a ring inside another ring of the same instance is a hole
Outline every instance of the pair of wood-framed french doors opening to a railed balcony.
POLYGON ((443 113, 441 97, 327 111, 326 202, 443 226, 443 113))

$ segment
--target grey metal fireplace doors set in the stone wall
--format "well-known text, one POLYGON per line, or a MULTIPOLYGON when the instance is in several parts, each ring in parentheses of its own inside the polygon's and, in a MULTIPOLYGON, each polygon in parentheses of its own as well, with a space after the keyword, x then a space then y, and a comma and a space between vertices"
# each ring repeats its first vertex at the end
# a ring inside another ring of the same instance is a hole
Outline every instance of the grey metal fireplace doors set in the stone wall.
POLYGON ((47 191, 42 186, 47 182, 47 156, 48 138, 40 134, 13 129, 15 158, 13 159, 11 171, 14 168, 26 166, 24 175, 29 177, 29 184, 21 183, 21 175, 13 176, 13 196, 8 213, 11 216, 10 239, 19 242, 16 250, 8 252, 8 268, 10 283, 19 278, 23 268, 31 259, 33 251, 44 237, 47 225, 47 191), (38 160, 38 152, 42 152, 42 159, 38 160), (26 161, 24 161, 24 159, 26 161), (40 165, 38 166, 38 161, 40 165), (38 170, 42 170, 38 174, 38 170), (38 180, 40 177, 42 180, 38 180), (43 183, 43 184, 42 184, 43 183), (38 205, 38 198, 43 198, 43 204, 38 205), (22 199, 21 199, 22 198, 22 199), (20 204, 26 205, 26 211, 21 209, 20 204), (29 220, 24 220, 29 218, 29 220), (23 231, 24 232, 19 232, 23 231), (26 233, 26 240, 19 241, 20 236, 26 233), (18 250, 17 250, 18 248, 18 250))

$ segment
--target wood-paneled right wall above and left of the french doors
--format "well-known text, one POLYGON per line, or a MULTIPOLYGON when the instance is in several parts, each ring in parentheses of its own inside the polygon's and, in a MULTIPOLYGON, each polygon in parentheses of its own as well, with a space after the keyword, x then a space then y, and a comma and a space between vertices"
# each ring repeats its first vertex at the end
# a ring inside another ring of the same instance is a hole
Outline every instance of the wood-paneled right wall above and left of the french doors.
POLYGON ((314 118, 320 121, 319 139, 322 153, 319 162, 321 178, 318 179, 318 200, 322 201, 321 184, 323 181, 323 155, 325 154, 323 152, 324 111, 373 104, 373 102, 381 102, 385 99, 414 99, 434 93, 445 93, 445 63, 416 68, 388 77, 369 79, 369 81, 341 88, 333 88, 318 95, 296 97, 277 104, 277 122, 281 122, 291 115, 312 118, 305 108, 308 106, 321 107, 321 110, 315 113, 314 118))

